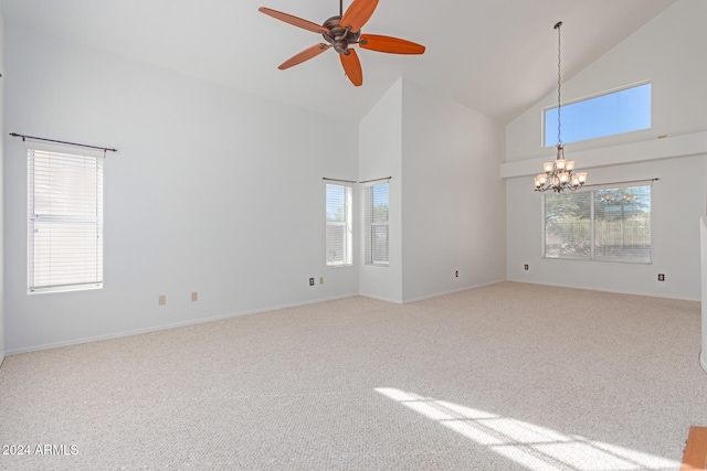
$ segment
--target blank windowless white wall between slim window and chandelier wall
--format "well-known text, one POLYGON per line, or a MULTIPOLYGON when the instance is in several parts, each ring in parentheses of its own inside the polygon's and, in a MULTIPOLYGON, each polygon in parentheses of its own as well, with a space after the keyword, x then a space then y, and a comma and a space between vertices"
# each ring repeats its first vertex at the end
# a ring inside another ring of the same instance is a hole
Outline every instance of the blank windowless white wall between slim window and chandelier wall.
POLYGON ((404 301, 505 280, 504 128, 403 84, 404 301))

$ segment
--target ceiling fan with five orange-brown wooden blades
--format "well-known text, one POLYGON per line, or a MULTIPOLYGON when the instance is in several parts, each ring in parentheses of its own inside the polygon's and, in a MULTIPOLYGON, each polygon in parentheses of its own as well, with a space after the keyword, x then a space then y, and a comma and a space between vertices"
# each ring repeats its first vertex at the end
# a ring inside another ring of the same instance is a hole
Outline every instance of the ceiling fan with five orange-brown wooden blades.
POLYGON ((334 50, 339 53, 346 76, 358 87, 363 83, 363 72, 361 71, 361 63, 358 60, 356 50, 350 49, 351 45, 358 44, 359 47, 362 49, 389 54, 424 53, 423 45, 399 38, 383 36, 380 34, 361 34, 361 26, 371 18, 377 6, 378 0, 354 0, 344 13, 342 0, 339 0, 339 14, 329 18, 324 24, 313 23, 312 21, 303 20, 302 18, 271 10, 265 7, 261 7, 257 10, 285 23, 321 34, 326 41, 326 43, 315 44, 293 55, 279 64, 277 68, 284 71, 334 47, 334 50))

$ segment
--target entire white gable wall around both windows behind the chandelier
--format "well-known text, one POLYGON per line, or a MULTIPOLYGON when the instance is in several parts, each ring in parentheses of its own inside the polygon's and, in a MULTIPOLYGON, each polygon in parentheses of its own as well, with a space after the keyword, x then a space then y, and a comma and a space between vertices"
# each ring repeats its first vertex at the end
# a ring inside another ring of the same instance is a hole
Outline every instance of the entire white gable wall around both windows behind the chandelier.
POLYGON ((508 176, 509 280, 700 299, 698 221, 707 195, 706 18, 707 2, 678 0, 562 85, 562 96, 572 99, 645 79, 653 84, 651 129, 566 148, 566 157, 589 171, 590 184, 659 179, 653 185, 653 264, 541 258, 540 195, 532 191, 532 174, 539 173, 542 160, 555 158, 552 148, 539 146, 541 109, 552 104, 548 95, 506 128, 507 163, 502 173, 508 176), (529 271, 523 269, 525 264, 529 271), (657 281, 657 274, 665 274, 664 282, 657 281))

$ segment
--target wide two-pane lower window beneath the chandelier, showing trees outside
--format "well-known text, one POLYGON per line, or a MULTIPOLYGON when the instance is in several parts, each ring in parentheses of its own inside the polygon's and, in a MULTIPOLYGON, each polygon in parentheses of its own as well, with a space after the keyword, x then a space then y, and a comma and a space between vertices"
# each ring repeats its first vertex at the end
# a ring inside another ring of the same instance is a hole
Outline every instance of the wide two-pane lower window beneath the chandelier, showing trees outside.
POLYGON ((546 258, 651 263, 651 186, 544 195, 546 258))

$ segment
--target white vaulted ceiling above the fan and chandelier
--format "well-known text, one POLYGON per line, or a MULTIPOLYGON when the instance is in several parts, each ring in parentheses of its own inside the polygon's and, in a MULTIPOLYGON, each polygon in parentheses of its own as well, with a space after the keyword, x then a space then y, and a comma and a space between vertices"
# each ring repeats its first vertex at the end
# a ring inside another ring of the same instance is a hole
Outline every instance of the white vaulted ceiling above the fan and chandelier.
MULTIPOLYGON (((424 44, 420 56, 358 50, 354 87, 329 50, 277 65, 321 36, 257 11, 321 23, 336 0, 2 0, 7 25, 96 47, 246 93, 358 120, 409 79, 505 124, 557 87, 557 32, 569 78, 675 0, 380 0, 365 33, 424 44)), ((344 10, 350 0, 344 1, 344 10)), ((11 71, 9 71, 11 72, 11 71)))

